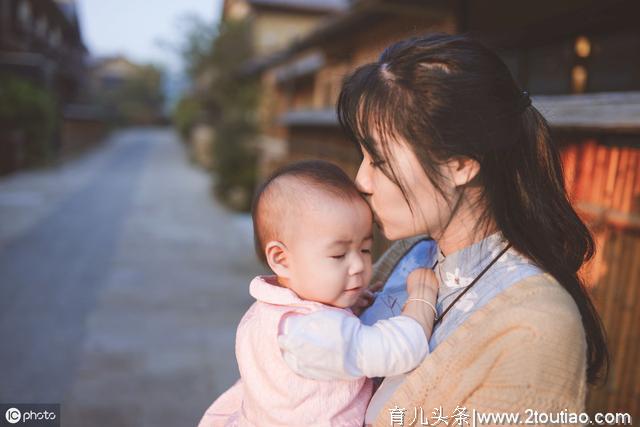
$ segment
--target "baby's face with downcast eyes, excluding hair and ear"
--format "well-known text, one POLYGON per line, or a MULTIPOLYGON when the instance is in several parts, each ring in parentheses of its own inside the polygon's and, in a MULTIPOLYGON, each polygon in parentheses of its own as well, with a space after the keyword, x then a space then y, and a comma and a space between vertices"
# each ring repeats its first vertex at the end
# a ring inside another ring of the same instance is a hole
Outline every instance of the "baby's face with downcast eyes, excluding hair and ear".
POLYGON ((352 306, 371 280, 372 214, 364 200, 328 198, 295 225, 290 288, 302 299, 352 306))

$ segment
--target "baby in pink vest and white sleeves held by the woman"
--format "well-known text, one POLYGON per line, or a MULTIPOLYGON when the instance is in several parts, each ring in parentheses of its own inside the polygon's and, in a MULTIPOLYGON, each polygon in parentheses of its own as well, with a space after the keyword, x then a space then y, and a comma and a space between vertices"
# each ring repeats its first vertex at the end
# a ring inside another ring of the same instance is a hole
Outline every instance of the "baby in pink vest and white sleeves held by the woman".
POLYGON ((411 371, 426 356, 437 282, 414 270, 408 302, 419 303, 360 322, 351 307, 371 279, 373 218, 331 163, 280 169, 257 191, 252 215, 256 251, 275 274, 251 281, 256 302, 236 335, 240 379, 199 426, 362 426, 370 378, 411 371))

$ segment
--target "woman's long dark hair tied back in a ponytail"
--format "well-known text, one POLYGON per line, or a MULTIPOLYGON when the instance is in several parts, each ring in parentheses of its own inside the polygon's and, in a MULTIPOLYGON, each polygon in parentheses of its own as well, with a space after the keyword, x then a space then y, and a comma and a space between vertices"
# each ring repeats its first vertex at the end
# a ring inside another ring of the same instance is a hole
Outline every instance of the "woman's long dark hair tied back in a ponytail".
POLYGON ((606 379, 604 328, 578 275, 594 255, 593 237, 569 201, 547 121, 496 53, 467 35, 402 40, 345 78, 337 112, 350 139, 387 165, 383 172, 407 203, 407 189, 389 162, 393 135, 410 144, 443 196, 438 165, 455 156, 478 161, 474 182, 483 191, 483 212, 476 231, 493 219, 515 249, 571 294, 587 339, 587 380, 606 379))

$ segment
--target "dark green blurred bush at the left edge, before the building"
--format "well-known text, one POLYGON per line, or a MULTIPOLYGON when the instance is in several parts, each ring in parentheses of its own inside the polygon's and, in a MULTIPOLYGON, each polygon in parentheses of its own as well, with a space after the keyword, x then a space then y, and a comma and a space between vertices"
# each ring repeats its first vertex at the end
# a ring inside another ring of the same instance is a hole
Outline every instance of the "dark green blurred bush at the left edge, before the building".
POLYGON ((49 91, 21 77, 0 75, 0 128, 25 135, 27 164, 50 160, 56 116, 56 102, 49 91))

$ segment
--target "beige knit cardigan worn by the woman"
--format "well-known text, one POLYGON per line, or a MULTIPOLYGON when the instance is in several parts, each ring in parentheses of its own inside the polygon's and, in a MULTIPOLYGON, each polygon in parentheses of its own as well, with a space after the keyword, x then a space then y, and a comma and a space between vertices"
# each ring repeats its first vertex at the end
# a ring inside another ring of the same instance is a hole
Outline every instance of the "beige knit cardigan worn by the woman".
MULTIPOLYGON (((385 252, 374 279, 385 280, 417 240, 398 242, 385 252)), ((550 274, 530 276, 480 307, 427 355, 395 390, 374 426, 391 425, 396 405, 406 409, 403 425, 420 425, 420 408, 433 424, 434 409, 442 407, 449 425, 456 406, 469 416, 474 409, 519 412, 521 421, 533 420, 527 418, 533 411, 552 417, 584 412, 586 350, 573 298, 550 274)))

